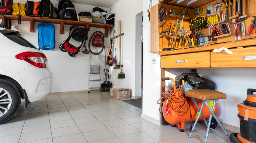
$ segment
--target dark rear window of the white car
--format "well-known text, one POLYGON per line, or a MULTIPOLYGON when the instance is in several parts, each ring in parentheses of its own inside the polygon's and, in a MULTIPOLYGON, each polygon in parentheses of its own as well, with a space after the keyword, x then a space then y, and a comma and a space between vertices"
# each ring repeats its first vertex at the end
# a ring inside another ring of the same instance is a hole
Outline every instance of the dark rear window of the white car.
POLYGON ((8 34, 5 34, 4 36, 7 37, 8 39, 12 40, 15 43, 22 45, 22 46, 37 49, 29 41, 27 41, 26 39, 24 39, 20 36, 17 36, 16 34, 8 33, 8 34))

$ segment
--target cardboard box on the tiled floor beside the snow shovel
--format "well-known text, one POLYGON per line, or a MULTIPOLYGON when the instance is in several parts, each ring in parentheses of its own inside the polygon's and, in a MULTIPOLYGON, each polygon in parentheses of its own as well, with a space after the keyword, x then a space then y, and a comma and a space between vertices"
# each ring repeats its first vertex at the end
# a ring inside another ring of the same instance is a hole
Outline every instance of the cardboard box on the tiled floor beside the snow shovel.
POLYGON ((130 98, 130 89, 128 88, 110 88, 110 97, 115 99, 130 98))

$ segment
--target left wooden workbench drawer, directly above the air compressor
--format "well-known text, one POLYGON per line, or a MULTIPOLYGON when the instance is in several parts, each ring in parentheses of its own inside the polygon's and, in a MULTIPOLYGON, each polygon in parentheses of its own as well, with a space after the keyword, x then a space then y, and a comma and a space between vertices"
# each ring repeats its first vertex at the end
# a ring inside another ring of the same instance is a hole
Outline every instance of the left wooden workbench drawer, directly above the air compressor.
POLYGON ((211 52, 198 52, 161 57, 161 68, 209 68, 211 52))

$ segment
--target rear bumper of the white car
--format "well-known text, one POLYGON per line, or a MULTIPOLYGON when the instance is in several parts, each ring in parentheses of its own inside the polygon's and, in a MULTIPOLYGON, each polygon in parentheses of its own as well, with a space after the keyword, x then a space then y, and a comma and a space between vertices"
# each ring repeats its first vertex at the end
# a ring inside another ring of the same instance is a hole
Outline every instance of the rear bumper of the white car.
POLYGON ((52 73, 47 68, 29 66, 13 77, 26 90, 28 100, 34 102, 52 91, 52 73))

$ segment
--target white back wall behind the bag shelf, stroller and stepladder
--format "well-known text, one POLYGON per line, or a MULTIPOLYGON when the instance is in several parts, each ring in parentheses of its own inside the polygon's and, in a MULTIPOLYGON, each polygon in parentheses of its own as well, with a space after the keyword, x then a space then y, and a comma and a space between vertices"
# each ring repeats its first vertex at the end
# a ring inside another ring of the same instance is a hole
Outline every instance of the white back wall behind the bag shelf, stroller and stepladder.
MULTIPOLYGON (((35 0, 39 1, 39 0, 35 0)), ((26 0, 14 0, 14 2, 17 3, 26 3, 26 0)), ((58 8, 58 1, 52 0, 53 6, 58 8)), ((75 7, 77 8, 78 13, 81 11, 93 11, 93 8, 96 6, 88 6, 88 5, 79 5, 75 4, 75 7)), ((108 8, 102 8, 106 10, 108 13, 108 8)), ((12 24, 15 24, 15 21, 12 20, 12 24)), ((37 36, 37 28, 38 28, 37 22, 35 22, 35 29, 34 33, 30 32, 30 22, 22 21, 21 24, 17 24, 16 28, 21 30, 23 33, 23 38, 31 42, 33 45, 38 45, 38 36, 37 36)), ((71 25, 66 25, 67 30, 64 31, 64 34, 59 34, 60 25, 54 24, 55 27, 55 48, 53 50, 42 50, 45 55, 47 56, 49 67, 51 72, 53 73, 53 87, 52 92, 65 92, 65 91, 80 91, 80 90, 88 90, 88 72, 89 72, 89 55, 83 54, 82 51, 84 48, 81 48, 81 51, 78 53, 78 55, 73 58, 68 55, 66 52, 62 52, 58 49, 59 45, 68 37, 69 34, 69 28, 71 25)), ((88 32, 88 40, 87 40, 87 49, 88 49, 88 42, 91 37, 91 35, 95 31, 101 31, 104 34, 103 28, 90 28, 90 31, 88 32)), ((105 46, 108 47, 108 43, 111 38, 111 34, 109 32, 108 38, 105 38, 105 46)), ((108 53, 107 53, 108 54, 108 53)), ((101 60, 101 73, 102 73, 102 79, 105 69, 104 65, 104 53, 102 52, 100 54, 100 60, 101 60)), ((92 65, 98 65, 98 56, 92 55, 92 65)), ((94 79, 96 79, 94 75, 94 79)), ((99 76, 98 76, 99 77, 99 76)), ((99 83, 91 84, 91 87, 98 87, 99 83)))

